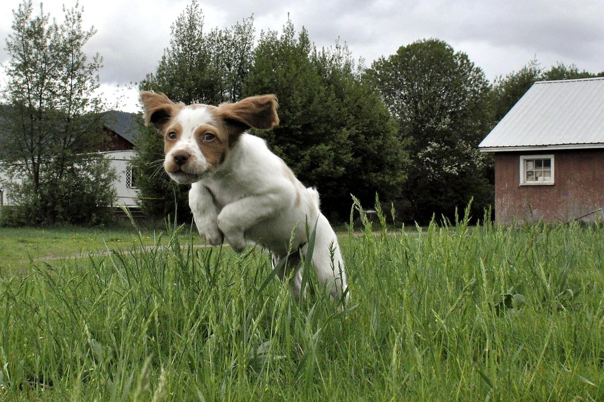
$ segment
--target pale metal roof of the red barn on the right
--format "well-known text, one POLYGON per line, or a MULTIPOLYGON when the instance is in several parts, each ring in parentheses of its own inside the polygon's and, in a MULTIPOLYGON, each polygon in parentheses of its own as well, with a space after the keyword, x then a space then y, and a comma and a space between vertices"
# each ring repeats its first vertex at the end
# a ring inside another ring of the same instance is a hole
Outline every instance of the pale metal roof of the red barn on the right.
POLYGON ((478 148, 604 148, 604 78, 536 82, 478 148))

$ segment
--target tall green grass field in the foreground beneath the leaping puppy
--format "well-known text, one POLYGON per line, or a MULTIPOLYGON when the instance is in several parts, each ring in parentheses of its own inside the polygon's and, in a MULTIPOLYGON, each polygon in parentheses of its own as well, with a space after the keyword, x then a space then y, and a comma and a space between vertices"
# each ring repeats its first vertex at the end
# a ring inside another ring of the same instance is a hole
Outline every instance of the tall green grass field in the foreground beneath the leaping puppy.
POLYGON ((602 225, 365 224, 347 306, 183 228, 2 275, 0 401, 604 398, 602 225))

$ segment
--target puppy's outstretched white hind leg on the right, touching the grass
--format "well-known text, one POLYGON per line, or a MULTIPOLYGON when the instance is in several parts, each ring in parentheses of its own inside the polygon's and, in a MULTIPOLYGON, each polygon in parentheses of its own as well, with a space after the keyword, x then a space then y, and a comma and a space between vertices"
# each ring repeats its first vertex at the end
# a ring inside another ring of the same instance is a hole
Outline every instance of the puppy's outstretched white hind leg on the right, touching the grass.
MULTIPOLYGON (((306 248, 303 253, 306 255, 306 248)), ((316 222, 315 249, 312 253, 312 265, 321 284, 330 287, 330 295, 334 299, 342 296, 348 287, 344 260, 339 249, 338 237, 333 231, 329 221, 323 214, 319 215, 316 222)), ((350 293, 346 294, 346 302, 350 293)))

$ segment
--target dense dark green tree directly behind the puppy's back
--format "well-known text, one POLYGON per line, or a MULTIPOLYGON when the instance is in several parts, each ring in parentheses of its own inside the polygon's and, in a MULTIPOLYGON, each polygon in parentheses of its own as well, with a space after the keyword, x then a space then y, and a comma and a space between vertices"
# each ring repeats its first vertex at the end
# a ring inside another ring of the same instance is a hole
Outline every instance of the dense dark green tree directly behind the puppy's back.
POLYGON ((288 20, 262 33, 246 95, 275 93, 280 124, 259 132, 300 180, 317 186, 321 208, 342 219, 352 199, 373 204, 405 177, 404 152, 379 95, 356 74, 345 46, 317 51, 288 20))

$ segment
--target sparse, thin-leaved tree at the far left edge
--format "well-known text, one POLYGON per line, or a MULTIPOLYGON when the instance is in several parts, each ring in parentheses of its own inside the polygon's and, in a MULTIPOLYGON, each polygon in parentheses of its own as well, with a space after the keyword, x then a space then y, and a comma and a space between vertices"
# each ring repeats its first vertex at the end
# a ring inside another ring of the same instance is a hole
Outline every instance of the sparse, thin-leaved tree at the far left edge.
POLYGON ((57 24, 41 5, 33 16, 32 2, 24 1, 6 40, 10 107, 2 159, 28 223, 103 220, 109 211, 98 207, 115 197, 108 162, 90 153, 102 140, 102 105, 93 95, 102 58, 88 60, 82 51, 95 31, 83 29, 77 7, 63 8, 65 20, 57 24))

